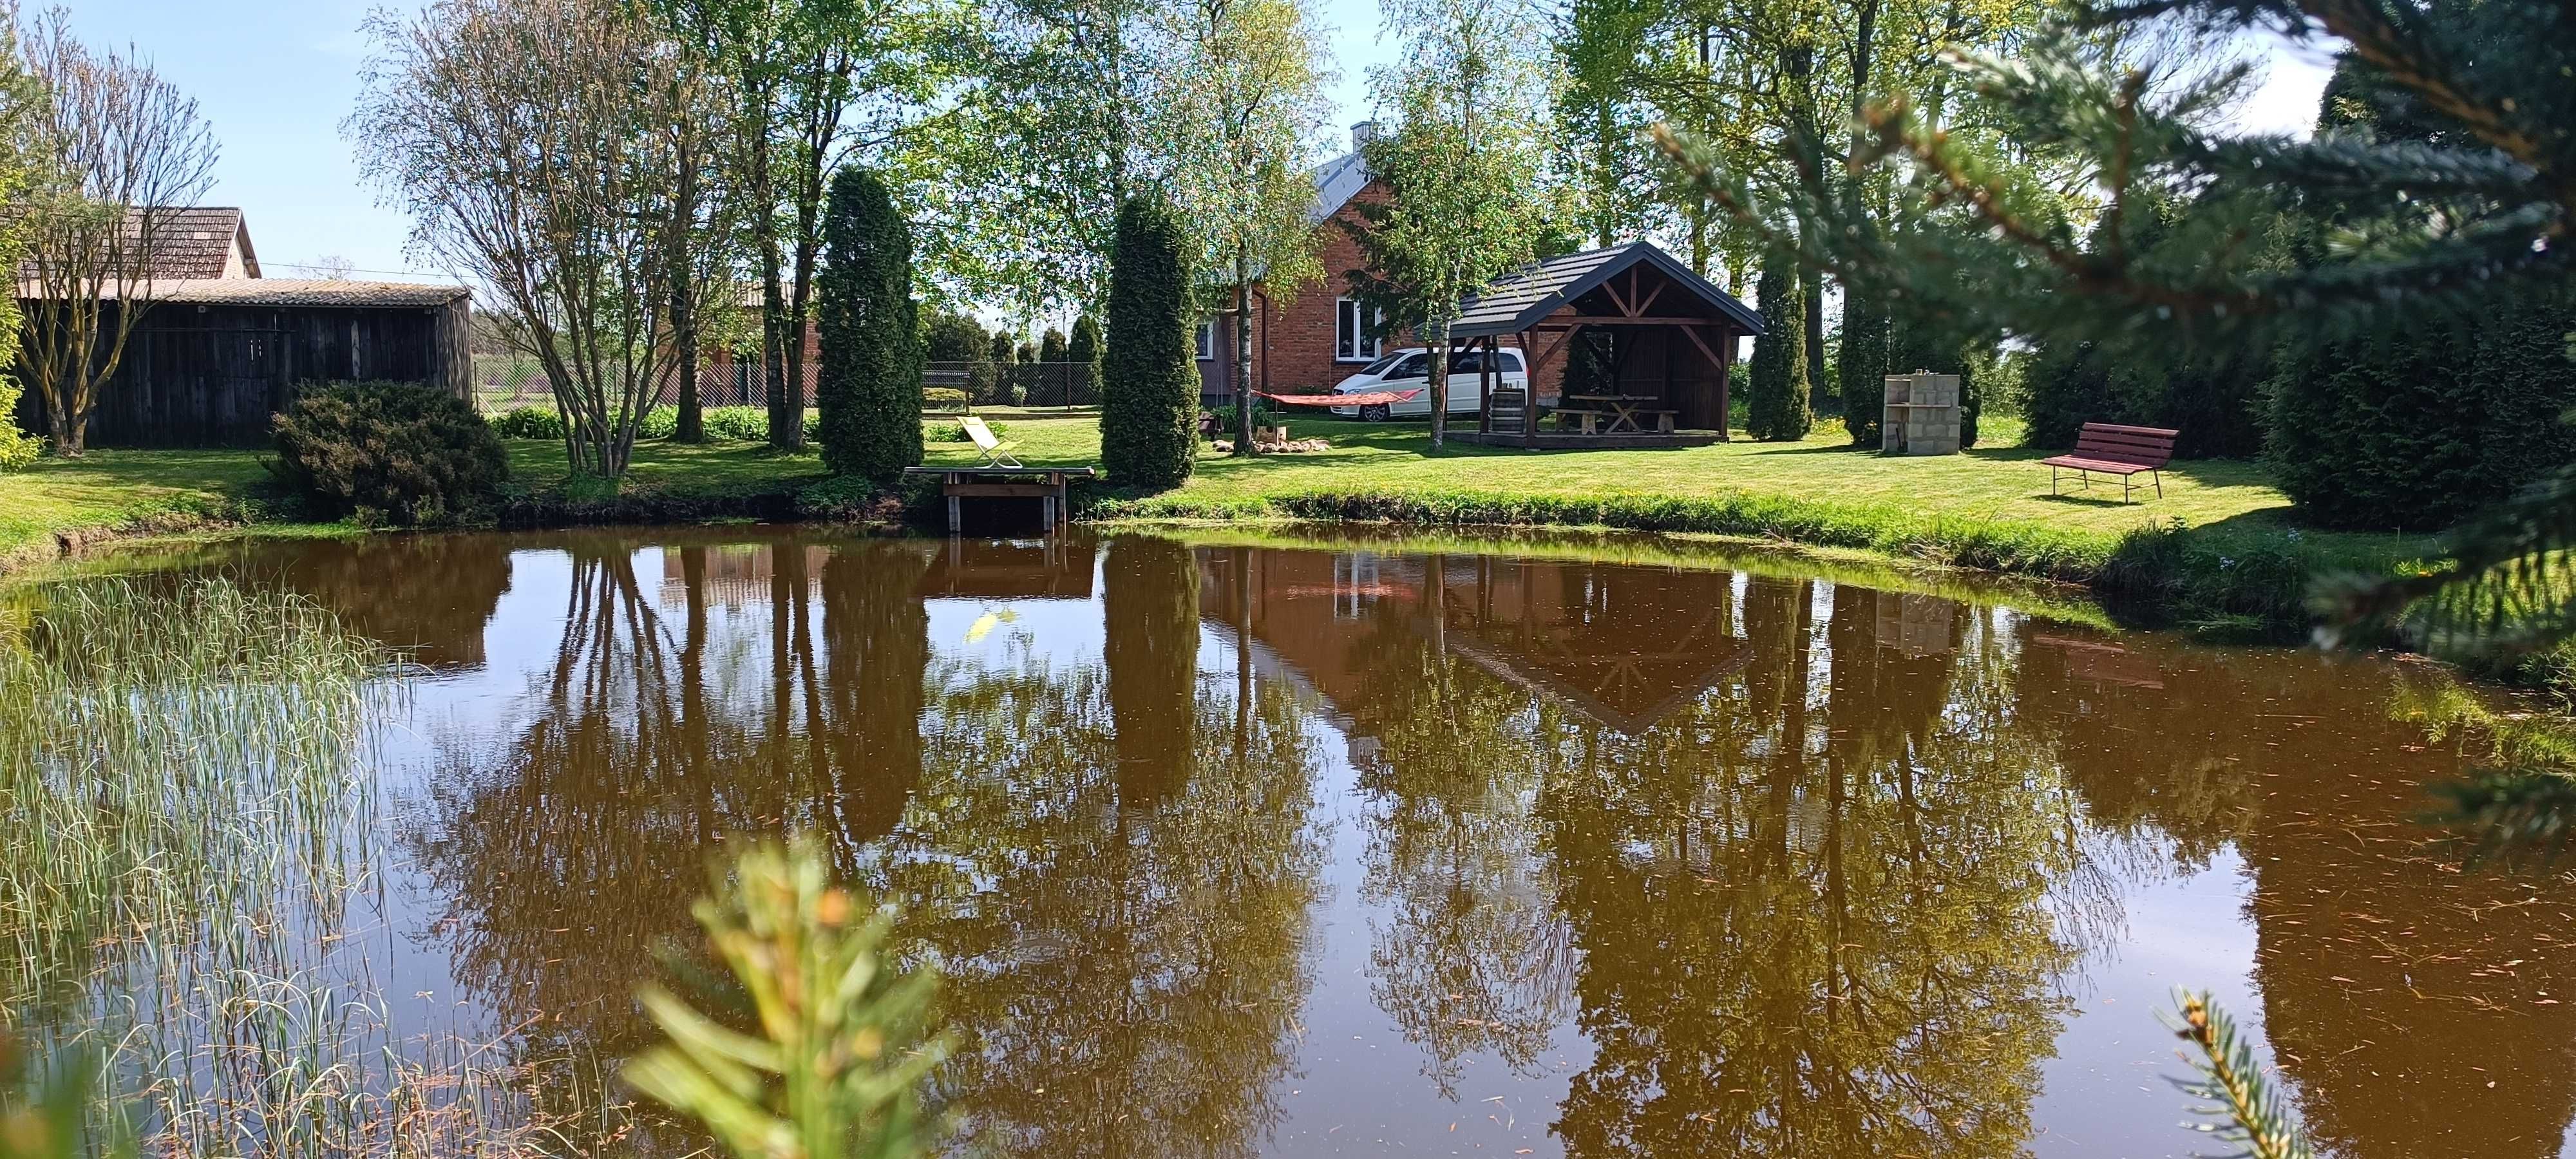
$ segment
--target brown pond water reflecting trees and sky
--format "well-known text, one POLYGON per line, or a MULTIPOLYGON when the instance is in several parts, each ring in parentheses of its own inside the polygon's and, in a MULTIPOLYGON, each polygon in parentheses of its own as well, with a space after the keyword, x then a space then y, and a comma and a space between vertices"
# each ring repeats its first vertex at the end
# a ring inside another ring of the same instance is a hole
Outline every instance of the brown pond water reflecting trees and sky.
POLYGON ((466 1118, 598 1115, 711 858, 793 829, 940 966, 969 1151, 2190 1154, 2174 986, 2331 1154, 2566 1146, 2576 894, 2421 822, 2496 744, 2429 664, 1646 538, 1298 536, 404 536, 155 582, 412 659, 263 930, 466 1118))

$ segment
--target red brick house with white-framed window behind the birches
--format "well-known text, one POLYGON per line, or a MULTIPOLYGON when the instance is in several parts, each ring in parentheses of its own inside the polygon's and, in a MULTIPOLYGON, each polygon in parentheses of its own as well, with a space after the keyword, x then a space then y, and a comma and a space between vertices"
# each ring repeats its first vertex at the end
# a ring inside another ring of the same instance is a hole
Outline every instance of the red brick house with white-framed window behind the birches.
MULTIPOLYGON (((1288 301, 1252 291, 1252 389, 1265 394, 1319 394, 1347 379, 1352 371, 1378 361, 1381 350, 1412 345, 1412 335, 1368 337, 1360 319, 1360 301, 1350 296, 1350 273, 1365 265, 1355 206, 1386 201, 1386 183, 1368 173, 1360 149, 1378 131, 1376 121, 1350 126, 1350 152, 1314 170, 1314 206, 1306 219, 1321 232, 1319 263, 1324 276, 1296 286, 1288 301)), ((1504 343, 1515 345, 1515 343, 1504 343)), ((1208 407, 1234 402, 1231 363, 1236 355, 1234 314, 1221 312, 1198 325, 1198 397, 1208 407)), ((1561 368, 1540 368, 1540 402, 1556 399, 1561 368)))

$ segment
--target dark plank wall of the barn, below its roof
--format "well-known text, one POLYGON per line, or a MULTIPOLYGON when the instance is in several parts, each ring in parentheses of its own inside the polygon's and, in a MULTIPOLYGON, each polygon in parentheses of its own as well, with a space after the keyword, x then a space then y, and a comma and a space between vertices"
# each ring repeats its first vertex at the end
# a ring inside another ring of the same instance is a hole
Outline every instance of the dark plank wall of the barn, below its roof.
MULTIPOLYGON (((309 381, 417 381, 466 397, 469 309, 157 304, 126 340, 88 443, 265 446, 268 417, 309 381)), ((18 399, 18 428, 49 433, 33 389, 18 399)))

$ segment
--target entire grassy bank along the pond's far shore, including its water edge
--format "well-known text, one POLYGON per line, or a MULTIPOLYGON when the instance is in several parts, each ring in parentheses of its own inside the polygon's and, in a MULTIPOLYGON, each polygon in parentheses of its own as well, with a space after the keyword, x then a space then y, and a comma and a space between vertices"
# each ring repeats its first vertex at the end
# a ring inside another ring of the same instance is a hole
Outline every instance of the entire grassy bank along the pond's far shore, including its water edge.
MULTIPOLYGON (((1097 464, 1092 415, 1012 412, 999 425, 1028 464, 1097 464)), ((956 430, 938 417, 930 428, 956 430)), ((2143 613, 2249 634, 2295 631, 2308 580, 2324 569, 2401 569, 2432 551, 2424 536, 2306 531, 2262 469, 2241 461, 2174 464, 2164 497, 2123 505, 2102 484, 2092 495, 2050 495, 2038 464, 2045 451, 1883 458, 1850 451, 1839 430, 1803 443, 1680 451, 1448 446, 1435 453, 1417 422, 1291 428, 1332 448, 1208 453, 1185 487, 1162 495, 1100 487, 1077 500, 1079 510, 1097 520, 1386 520, 1775 538, 2087 585, 2143 613)), ((224 520, 345 531, 294 523, 286 505, 265 500, 258 458, 258 451, 98 451, 0 476, 0 559, 224 520)), ((616 489, 572 479, 554 443, 510 443, 510 458, 502 525, 894 515, 891 502, 827 482, 814 456, 752 443, 644 443, 616 489)), ((969 443, 933 440, 927 461, 969 466, 979 456, 969 443)))

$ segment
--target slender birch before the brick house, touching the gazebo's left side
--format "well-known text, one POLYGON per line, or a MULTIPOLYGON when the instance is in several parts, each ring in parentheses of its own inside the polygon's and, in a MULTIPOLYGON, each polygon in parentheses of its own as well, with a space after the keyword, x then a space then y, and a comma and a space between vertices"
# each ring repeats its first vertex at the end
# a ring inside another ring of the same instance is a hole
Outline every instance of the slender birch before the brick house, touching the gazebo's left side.
POLYGON ((1525 0, 1386 0, 1383 10, 1404 52, 1370 88, 1399 121, 1365 149, 1388 198, 1360 211, 1358 240, 1378 270, 1363 276, 1360 296, 1430 348, 1437 451, 1448 438, 1448 327, 1461 301, 1538 252, 1548 221, 1556 70, 1533 52, 1546 21, 1525 0))

